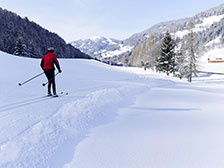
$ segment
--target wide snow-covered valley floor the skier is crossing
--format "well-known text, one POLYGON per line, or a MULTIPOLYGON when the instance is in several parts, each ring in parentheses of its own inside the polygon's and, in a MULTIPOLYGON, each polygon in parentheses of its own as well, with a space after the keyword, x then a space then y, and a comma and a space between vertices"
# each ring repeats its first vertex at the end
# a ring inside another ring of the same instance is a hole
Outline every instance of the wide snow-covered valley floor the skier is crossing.
MULTIPOLYGON (((0 52, 1 168, 223 168, 224 76, 192 83, 93 60, 59 60, 58 98, 40 60, 0 52), (68 92, 68 95, 60 94, 68 92)), ((224 64, 201 70, 224 72, 224 64)))

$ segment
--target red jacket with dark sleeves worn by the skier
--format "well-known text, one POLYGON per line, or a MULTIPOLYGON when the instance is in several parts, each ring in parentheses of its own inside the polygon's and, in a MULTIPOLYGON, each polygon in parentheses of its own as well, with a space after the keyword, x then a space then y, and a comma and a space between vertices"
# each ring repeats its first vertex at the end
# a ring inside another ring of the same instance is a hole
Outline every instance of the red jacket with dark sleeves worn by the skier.
POLYGON ((57 69, 60 70, 60 65, 57 60, 57 57, 52 52, 48 52, 48 54, 43 56, 40 65, 43 70, 44 69, 53 69, 54 70, 55 69, 54 64, 56 65, 57 69))

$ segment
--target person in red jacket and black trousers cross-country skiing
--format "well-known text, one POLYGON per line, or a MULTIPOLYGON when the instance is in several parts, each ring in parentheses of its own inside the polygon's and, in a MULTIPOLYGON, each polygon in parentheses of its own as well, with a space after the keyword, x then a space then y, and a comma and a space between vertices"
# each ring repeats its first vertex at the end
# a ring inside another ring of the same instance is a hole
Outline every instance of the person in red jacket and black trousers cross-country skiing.
POLYGON ((59 65, 59 62, 57 60, 57 57, 53 54, 54 48, 50 47, 48 48, 48 53, 44 55, 41 59, 40 66, 43 69, 47 79, 48 79, 48 96, 52 96, 51 94, 51 86, 53 89, 53 95, 57 96, 56 93, 56 84, 55 84, 55 74, 54 74, 54 65, 56 65, 58 72, 61 73, 61 68, 59 65))

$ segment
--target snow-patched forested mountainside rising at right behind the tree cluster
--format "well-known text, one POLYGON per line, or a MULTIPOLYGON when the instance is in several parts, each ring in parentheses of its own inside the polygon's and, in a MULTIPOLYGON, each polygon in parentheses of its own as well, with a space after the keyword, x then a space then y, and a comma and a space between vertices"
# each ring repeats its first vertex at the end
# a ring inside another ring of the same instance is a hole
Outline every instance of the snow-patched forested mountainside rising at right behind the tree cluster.
MULTIPOLYGON (((99 58, 104 61, 112 61, 122 64, 130 64, 131 62, 134 62, 134 66, 139 66, 141 59, 137 61, 133 58, 133 52, 138 45, 146 43, 152 35, 155 36, 158 41, 161 41, 166 31, 169 31, 172 34, 178 44, 189 33, 190 22, 194 24, 193 31, 196 34, 195 41, 200 50, 199 54, 203 55, 211 49, 224 46, 223 18, 224 4, 192 17, 161 22, 121 41, 117 46, 114 46, 116 50, 109 49, 104 51, 104 53, 107 53, 108 57, 99 58)), ((82 47, 85 47, 85 44, 83 44, 82 47)), ((95 52, 98 52, 97 48, 95 48, 95 52)))

